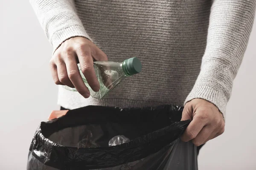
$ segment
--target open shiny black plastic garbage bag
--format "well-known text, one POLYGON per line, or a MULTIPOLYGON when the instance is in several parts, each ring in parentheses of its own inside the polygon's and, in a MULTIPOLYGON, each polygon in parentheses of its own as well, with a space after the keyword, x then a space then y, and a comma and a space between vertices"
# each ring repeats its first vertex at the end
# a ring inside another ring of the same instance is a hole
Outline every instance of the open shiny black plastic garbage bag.
POLYGON ((27 170, 198 170, 195 145, 179 139, 190 123, 180 121, 182 109, 70 110, 41 122, 27 170))

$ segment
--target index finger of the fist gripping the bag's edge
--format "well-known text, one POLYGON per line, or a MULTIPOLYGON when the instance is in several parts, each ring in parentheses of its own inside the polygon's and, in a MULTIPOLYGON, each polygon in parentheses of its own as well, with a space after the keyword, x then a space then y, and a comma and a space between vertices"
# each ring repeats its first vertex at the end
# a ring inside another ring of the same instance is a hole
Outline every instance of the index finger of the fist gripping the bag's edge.
POLYGON ((203 127, 206 124, 207 124, 207 117, 195 116, 192 122, 189 123, 183 135, 181 136, 181 140, 183 142, 188 142, 192 139, 195 139, 198 136, 198 133, 203 129, 203 127))

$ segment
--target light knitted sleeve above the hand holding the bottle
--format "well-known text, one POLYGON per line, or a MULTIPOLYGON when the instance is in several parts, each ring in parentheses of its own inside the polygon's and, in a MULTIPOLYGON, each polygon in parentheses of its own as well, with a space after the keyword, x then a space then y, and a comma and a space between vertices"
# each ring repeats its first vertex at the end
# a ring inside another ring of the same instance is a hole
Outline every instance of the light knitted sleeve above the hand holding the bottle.
POLYGON ((90 40, 76 14, 74 0, 30 0, 30 3, 54 51, 70 37, 90 40))

